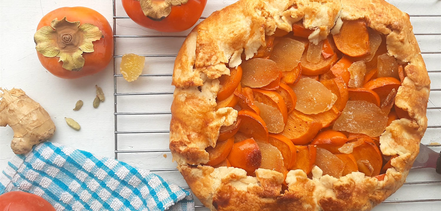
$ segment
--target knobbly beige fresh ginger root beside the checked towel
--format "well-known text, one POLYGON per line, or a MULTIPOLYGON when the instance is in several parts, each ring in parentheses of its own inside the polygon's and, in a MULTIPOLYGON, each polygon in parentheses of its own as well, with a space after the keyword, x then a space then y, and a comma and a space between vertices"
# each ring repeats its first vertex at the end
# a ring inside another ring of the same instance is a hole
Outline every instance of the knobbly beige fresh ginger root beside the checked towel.
POLYGON ((14 131, 11 149, 15 154, 30 152, 32 146, 54 134, 55 124, 49 113, 23 90, 0 91, 0 126, 9 125, 14 131))

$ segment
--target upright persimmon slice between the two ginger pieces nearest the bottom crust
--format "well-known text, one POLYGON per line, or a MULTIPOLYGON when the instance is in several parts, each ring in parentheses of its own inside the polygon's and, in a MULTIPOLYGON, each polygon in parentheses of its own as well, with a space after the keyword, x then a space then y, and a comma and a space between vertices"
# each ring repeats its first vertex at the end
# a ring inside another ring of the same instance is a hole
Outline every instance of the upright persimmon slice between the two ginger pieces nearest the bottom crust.
POLYGON ((317 156, 317 147, 314 145, 295 146, 297 149, 296 162, 292 169, 302 169, 306 174, 312 170, 317 156))

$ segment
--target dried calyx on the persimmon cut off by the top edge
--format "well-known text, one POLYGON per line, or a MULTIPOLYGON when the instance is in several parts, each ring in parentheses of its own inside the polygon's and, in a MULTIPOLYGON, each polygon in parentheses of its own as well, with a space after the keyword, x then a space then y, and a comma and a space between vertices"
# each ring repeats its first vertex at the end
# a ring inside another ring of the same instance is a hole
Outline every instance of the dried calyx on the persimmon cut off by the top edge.
POLYGON ((188 0, 138 0, 147 18, 160 21, 172 11, 172 6, 186 4, 188 0))

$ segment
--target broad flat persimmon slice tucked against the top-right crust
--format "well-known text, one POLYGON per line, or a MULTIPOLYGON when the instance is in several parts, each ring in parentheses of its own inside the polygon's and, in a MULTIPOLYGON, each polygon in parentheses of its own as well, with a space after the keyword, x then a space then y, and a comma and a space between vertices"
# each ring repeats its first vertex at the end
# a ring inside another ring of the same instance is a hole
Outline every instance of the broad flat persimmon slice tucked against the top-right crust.
POLYGON ((369 53, 369 32, 362 19, 344 20, 340 33, 333 35, 333 38, 338 50, 345 55, 359 57, 369 53))

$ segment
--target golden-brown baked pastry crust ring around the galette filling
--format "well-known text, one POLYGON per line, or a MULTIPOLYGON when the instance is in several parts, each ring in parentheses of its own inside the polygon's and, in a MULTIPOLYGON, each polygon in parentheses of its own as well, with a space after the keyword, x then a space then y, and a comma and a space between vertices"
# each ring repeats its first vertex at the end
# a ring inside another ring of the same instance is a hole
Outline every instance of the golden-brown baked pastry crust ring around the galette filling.
POLYGON ((176 86, 170 123, 170 149, 178 169, 193 193, 211 210, 366 211, 381 203, 404 183, 419 152, 427 128, 426 108, 430 80, 409 15, 384 0, 239 0, 216 11, 187 36, 175 61, 176 86), (383 181, 352 172, 340 178, 322 175, 313 168, 313 178, 291 170, 288 189, 281 191, 283 175, 258 169, 256 177, 234 167, 200 165, 208 162, 205 148, 216 146, 222 125, 233 124, 237 111, 215 109, 219 78, 253 57, 265 44, 265 34, 276 28, 292 31, 303 19, 314 29, 309 40, 318 43, 338 33, 342 20, 363 18, 367 25, 386 35, 388 54, 407 65, 406 77, 395 103, 411 120, 394 120, 380 137, 384 155, 398 155, 383 181))

